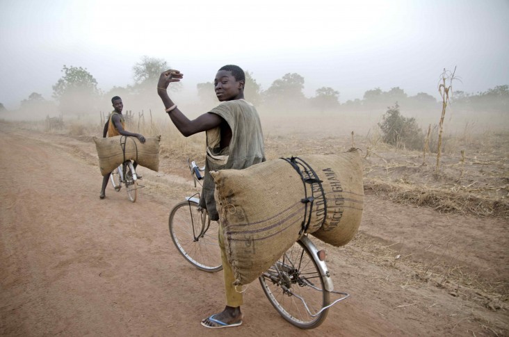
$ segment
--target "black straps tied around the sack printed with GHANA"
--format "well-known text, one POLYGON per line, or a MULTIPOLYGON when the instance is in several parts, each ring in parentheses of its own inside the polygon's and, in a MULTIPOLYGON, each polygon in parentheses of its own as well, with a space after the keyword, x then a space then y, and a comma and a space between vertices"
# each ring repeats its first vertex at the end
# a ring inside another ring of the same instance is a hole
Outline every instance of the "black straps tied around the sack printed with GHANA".
POLYGON ((281 158, 293 167, 297 173, 300 175, 300 179, 302 179, 302 183, 304 184, 304 198, 300 199, 300 202, 305 205, 304 208, 304 220, 302 220, 301 228, 299 231, 299 236, 302 236, 309 229, 309 224, 311 223, 311 217, 313 212, 313 204, 315 199, 315 187, 318 186, 319 191, 321 192, 321 197, 323 199, 323 219, 321 220, 320 227, 324 224, 325 219, 327 219, 327 199, 325 199, 325 192, 323 190, 322 182, 318 179, 318 175, 314 172, 313 168, 303 161, 299 157, 291 157, 291 158, 281 158), (308 188, 311 189, 311 192, 308 193, 308 188), (309 211, 308 211, 309 207, 309 211))

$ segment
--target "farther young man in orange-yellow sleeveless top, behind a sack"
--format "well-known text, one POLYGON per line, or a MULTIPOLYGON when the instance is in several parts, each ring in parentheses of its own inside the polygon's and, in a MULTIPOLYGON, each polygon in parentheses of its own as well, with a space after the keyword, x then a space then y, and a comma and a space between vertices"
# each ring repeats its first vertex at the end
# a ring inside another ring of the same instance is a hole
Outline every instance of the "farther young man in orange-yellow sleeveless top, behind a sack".
MULTIPOLYGON (((111 99, 111 103, 113 104, 113 110, 104 124, 104 129, 102 131, 102 137, 106 138, 113 137, 115 135, 127 135, 130 137, 136 137, 143 144, 145 142, 145 137, 140 135, 139 133, 132 133, 125 130, 125 120, 122 115, 122 109, 124 108, 124 104, 122 103, 122 99, 118 96, 115 96, 111 99)), ((134 168, 136 169, 136 161, 134 162, 134 168)), ((106 174, 102 179, 102 188, 101 194, 99 198, 104 199, 106 197, 106 186, 108 186, 108 180, 110 179, 111 173, 106 174)), ((138 176, 138 179, 140 176, 138 176)))

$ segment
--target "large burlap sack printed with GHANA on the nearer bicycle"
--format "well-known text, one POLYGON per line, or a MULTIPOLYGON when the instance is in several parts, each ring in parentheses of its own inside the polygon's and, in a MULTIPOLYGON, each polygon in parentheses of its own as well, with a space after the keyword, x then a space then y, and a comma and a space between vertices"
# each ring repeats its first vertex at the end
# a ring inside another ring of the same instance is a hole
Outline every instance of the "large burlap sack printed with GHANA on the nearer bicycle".
MULTIPOLYGON (((314 186, 307 233, 331 245, 345 245, 357 232, 362 216, 364 189, 358 151, 299 158, 316 172, 325 194, 324 199, 314 186)), ((211 176, 235 284, 248 284, 298 240, 305 220, 304 183, 282 159, 245 170, 211 172, 211 176)))

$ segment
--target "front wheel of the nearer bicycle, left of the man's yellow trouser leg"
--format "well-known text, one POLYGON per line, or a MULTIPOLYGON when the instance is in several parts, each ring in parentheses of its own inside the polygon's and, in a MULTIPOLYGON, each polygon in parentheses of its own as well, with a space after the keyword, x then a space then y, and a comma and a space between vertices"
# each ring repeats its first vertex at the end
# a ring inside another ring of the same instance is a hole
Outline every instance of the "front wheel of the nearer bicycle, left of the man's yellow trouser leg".
POLYGON ((210 221, 207 211, 198 208, 196 202, 177 204, 168 224, 175 247, 189 263, 205 272, 223 269, 218 243, 219 222, 210 221))

